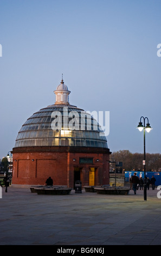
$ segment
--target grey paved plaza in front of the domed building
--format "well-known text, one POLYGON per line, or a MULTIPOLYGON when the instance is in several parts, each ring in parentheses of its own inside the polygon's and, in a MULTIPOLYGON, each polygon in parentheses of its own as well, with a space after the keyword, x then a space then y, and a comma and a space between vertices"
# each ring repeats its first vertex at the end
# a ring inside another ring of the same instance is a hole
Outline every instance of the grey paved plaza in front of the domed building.
POLYGON ((161 245, 158 190, 38 195, 2 188, 0 245, 161 245))

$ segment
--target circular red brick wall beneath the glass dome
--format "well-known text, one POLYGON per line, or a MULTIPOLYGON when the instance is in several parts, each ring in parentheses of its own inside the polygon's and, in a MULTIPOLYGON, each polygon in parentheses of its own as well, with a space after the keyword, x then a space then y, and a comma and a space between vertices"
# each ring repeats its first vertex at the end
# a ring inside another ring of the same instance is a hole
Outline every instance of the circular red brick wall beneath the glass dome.
POLYGON ((89 168, 95 167, 95 185, 109 184, 110 154, 74 152, 12 152, 12 184, 44 185, 51 176, 54 185, 74 187, 74 168, 80 167, 83 185, 89 185, 89 168), (93 157, 93 164, 80 164, 79 157, 93 157), (75 159, 76 161, 73 161, 75 159), (99 161, 96 161, 99 159, 99 161), (34 160, 34 161, 32 161, 34 160))

